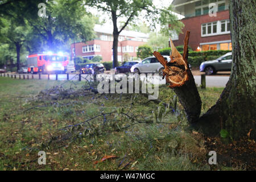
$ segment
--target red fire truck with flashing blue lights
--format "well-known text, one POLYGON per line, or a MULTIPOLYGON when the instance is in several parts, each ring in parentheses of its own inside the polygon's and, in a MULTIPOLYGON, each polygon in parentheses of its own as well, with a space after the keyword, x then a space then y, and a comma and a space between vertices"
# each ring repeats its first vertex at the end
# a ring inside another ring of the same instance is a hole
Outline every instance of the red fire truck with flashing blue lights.
POLYGON ((68 56, 62 53, 36 53, 27 56, 28 72, 35 73, 65 73, 68 56))

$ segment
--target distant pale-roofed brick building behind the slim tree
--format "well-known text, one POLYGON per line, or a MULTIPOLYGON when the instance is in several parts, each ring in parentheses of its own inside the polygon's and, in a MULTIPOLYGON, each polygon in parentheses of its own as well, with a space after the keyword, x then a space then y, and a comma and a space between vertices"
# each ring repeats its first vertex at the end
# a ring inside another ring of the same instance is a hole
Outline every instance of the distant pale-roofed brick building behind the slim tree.
MULTIPOLYGON (((86 59, 92 59, 94 56, 101 56, 102 61, 113 60, 113 30, 109 27, 94 26, 97 38, 86 43, 78 42, 71 44, 72 59, 74 54, 86 59)), ((141 32, 123 30, 118 37, 118 61, 124 59, 133 60, 137 57, 137 49, 139 46, 147 42, 148 35, 141 32)))

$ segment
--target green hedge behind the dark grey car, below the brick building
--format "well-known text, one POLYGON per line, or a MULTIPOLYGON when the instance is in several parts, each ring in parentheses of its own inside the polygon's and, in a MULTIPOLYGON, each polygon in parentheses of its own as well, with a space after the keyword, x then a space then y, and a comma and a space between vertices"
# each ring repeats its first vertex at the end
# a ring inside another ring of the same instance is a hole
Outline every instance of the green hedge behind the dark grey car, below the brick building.
MULTIPOLYGON (((159 49, 161 55, 170 55, 171 48, 163 48, 159 49)), ((217 51, 189 51, 188 52, 188 63, 191 64, 192 67, 199 67, 203 61, 214 60, 218 57, 225 55, 230 51, 217 50, 217 51)), ((182 55, 183 52, 180 52, 182 55)))

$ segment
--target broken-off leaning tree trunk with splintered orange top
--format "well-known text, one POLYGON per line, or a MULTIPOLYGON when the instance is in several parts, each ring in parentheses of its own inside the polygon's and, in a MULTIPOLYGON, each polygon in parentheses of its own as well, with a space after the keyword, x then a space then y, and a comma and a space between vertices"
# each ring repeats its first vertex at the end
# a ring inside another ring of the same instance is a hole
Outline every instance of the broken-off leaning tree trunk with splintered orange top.
POLYGON ((189 123, 196 122, 201 113, 201 99, 197 90, 194 77, 188 65, 188 40, 190 32, 187 31, 184 39, 183 56, 177 51, 170 39, 171 61, 167 62, 159 52, 153 55, 163 65, 163 78, 170 84, 170 88, 179 97, 180 104, 184 107, 189 123))

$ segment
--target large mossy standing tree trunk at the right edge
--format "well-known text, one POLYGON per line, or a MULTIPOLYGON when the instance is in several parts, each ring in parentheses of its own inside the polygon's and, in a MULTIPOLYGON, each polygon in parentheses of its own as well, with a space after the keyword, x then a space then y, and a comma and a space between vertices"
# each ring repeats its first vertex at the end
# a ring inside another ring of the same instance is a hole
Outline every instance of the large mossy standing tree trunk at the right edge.
POLYGON ((254 5, 254 0, 230 1, 232 73, 216 105, 193 124, 207 135, 218 135, 225 129, 233 139, 256 137, 254 5))

